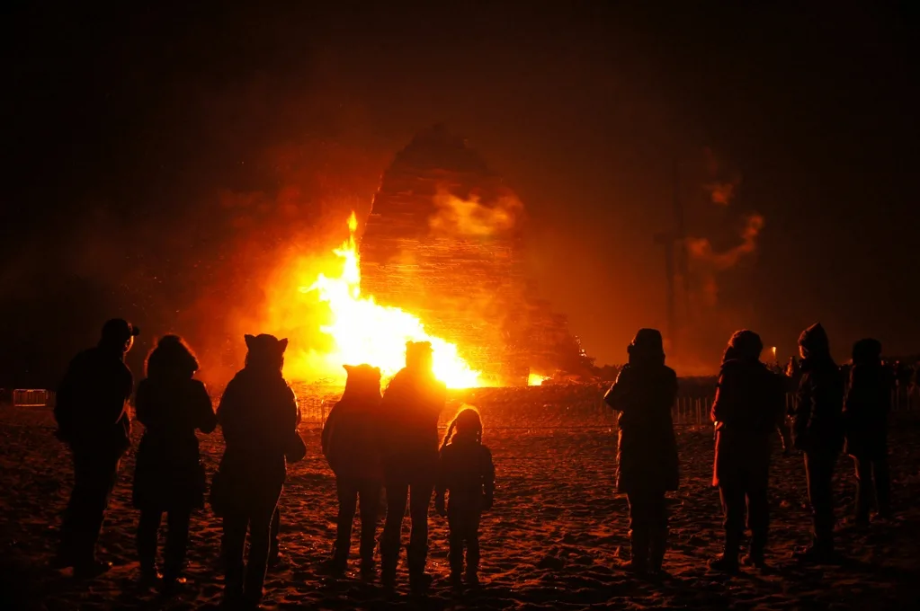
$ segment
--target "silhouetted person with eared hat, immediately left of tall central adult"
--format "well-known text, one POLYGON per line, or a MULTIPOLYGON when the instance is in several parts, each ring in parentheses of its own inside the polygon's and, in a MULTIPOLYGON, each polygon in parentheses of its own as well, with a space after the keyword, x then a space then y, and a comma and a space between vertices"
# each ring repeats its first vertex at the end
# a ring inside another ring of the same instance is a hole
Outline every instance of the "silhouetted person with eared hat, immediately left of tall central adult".
POLYGON ((336 474, 339 498, 336 542, 327 570, 345 572, 351 550, 351 523, 361 504, 361 573, 374 577, 374 546, 384 466, 380 432, 380 369, 346 365, 348 378, 342 398, 329 412, 323 427, 323 455, 336 474))

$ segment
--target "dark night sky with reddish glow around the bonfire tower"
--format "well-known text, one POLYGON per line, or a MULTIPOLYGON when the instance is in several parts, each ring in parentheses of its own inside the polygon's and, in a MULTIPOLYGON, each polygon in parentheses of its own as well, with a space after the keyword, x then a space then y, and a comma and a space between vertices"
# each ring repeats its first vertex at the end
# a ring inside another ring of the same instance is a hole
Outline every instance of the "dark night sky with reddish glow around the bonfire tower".
POLYGON ((5 8, 0 383, 54 379, 116 314, 219 343, 271 248, 366 212, 438 121, 518 192, 541 292, 599 362, 664 324, 674 157, 692 233, 728 248, 765 217, 696 361, 740 325, 788 354, 816 320, 841 359, 920 352, 911 3, 126 4, 5 8))

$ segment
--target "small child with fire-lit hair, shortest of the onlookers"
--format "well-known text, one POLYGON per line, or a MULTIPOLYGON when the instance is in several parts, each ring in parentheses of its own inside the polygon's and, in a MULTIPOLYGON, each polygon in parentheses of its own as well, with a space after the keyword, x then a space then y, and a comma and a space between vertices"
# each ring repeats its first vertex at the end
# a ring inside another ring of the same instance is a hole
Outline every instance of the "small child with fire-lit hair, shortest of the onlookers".
POLYGON ((450 527, 451 583, 462 585, 466 548, 466 585, 479 584, 479 520, 492 508, 495 497, 495 465, 492 453, 482 445, 479 413, 466 408, 447 428, 438 461, 434 506, 447 516, 450 527), (444 493, 449 494, 444 505, 444 493))

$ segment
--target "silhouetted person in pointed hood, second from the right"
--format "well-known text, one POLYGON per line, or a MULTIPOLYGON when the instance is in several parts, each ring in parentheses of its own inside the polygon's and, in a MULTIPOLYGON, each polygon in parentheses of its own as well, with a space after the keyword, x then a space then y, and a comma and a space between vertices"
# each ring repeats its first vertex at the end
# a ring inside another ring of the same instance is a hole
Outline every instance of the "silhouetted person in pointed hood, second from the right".
POLYGON ((801 560, 834 556, 834 465, 844 445, 844 380, 831 357, 820 323, 799 336, 802 378, 793 423, 793 443, 805 453, 814 539, 796 555, 801 560))

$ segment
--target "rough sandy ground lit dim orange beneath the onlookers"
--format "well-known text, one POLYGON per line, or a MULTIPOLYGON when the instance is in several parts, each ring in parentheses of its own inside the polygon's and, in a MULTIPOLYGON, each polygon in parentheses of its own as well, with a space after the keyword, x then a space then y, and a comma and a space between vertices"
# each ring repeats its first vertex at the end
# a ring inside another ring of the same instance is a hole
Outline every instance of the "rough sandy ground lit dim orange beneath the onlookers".
MULTIPOLYGON (((726 578, 707 571, 722 538, 719 494, 712 477, 708 427, 678 429, 681 490, 673 495, 672 579, 645 583, 612 568, 627 546, 626 499, 613 491, 613 417, 592 387, 471 390, 453 402, 480 409, 484 441, 495 456, 495 508, 482 523, 481 591, 460 598, 446 586, 447 525, 431 513, 430 570, 440 579, 426 600, 381 591, 357 578, 357 542, 349 578, 324 581, 318 565, 335 533, 334 481, 319 451, 318 430, 305 424, 308 455, 292 466, 282 496, 282 546, 290 565, 270 573, 268 608, 913 608, 920 597, 920 420, 899 413, 891 427, 894 508, 901 519, 866 532, 841 526, 846 554, 838 566, 805 567, 788 560, 809 540, 809 513, 800 458, 779 458, 773 470, 773 528, 768 560, 776 571, 726 578)), ((452 415, 451 408, 445 418, 452 415)), ((138 426, 137 429, 141 427, 138 426)), ((188 589, 157 600, 136 585, 137 512, 131 507, 133 454, 124 461, 100 539, 116 568, 92 583, 47 569, 59 516, 71 486, 69 459, 53 437, 48 410, 0 408, 0 608, 204 609, 220 601, 220 523, 210 510, 192 518, 188 589)), ((135 437, 141 431, 135 431, 135 437)), ((135 438, 135 445, 136 448, 135 438)), ((201 437, 213 474, 223 451, 218 433, 201 437)), ((834 482, 837 515, 852 510, 855 482, 841 458, 834 482)), ((381 516, 382 517, 382 516, 381 516)), ((408 521, 407 521, 408 522, 408 521)), ((382 526, 382 525, 381 525, 382 526)), ((407 525, 408 526, 408 525, 407 525)), ((401 575, 404 578, 405 575, 401 575)))

